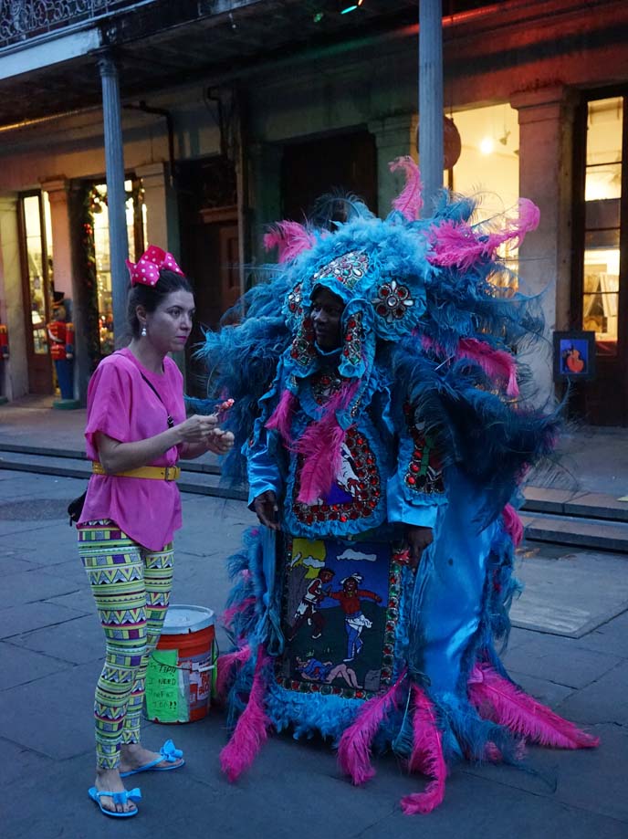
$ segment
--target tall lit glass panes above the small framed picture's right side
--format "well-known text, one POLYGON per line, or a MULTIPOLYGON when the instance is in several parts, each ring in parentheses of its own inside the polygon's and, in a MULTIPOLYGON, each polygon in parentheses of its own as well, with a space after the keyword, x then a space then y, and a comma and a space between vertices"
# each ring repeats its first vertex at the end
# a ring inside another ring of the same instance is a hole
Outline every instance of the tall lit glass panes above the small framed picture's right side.
POLYGON ((589 103, 582 329, 600 355, 617 354, 623 99, 589 103))

